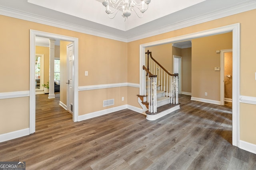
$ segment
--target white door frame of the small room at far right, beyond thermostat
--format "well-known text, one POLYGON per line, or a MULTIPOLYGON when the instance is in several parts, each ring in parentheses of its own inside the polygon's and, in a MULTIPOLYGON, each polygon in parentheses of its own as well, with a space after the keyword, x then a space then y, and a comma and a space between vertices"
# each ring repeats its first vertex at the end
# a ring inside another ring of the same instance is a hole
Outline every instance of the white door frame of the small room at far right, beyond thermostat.
POLYGON ((225 68, 225 62, 224 62, 224 53, 226 52, 232 52, 232 49, 226 49, 226 50, 220 50, 220 105, 224 105, 225 102, 225 82, 224 82, 224 68, 225 68))

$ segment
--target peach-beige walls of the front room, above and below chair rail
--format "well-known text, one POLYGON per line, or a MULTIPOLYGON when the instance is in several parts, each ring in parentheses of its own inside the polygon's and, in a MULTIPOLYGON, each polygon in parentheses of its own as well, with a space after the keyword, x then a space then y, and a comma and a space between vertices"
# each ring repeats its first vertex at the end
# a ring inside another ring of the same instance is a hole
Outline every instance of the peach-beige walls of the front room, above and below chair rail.
MULTIPOLYGON (((240 95, 256 97, 256 57, 253 57, 252 55, 256 53, 256 48, 254 47, 254 39, 256 39, 256 34, 254 34, 256 22, 252 22, 254 21, 254 16, 256 16, 256 10, 251 10, 218 20, 170 31, 168 33, 163 33, 153 37, 132 41, 130 43, 114 41, 30 21, 0 16, 2 25, 0 27, 0 35, 2 40, 0 41, 0 46, 2 47, 1 56, 4 57, 5 61, 0 63, 0 78, 2 82, 0 92, 29 90, 30 29, 77 37, 79 39, 78 84, 79 86, 86 86, 121 82, 139 83, 140 44, 195 33, 216 27, 222 27, 234 23, 240 23, 240 95), (13 68, 15 68, 15 70, 13 68), (19 71, 17 72, 16 70, 19 71), (84 76, 85 70, 89 71, 89 76, 87 77, 84 76), (19 82, 19 86, 12 83, 13 80, 19 82)), ((128 101, 124 101, 124 104, 140 107, 139 104, 137 104, 138 102, 134 102, 134 99, 137 101, 136 94, 138 94, 138 90, 135 90, 135 88, 118 88, 117 92, 115 90, 112 91, 117 93, 115 95, 109 94, 109 90, 106 90, 108 92, 104 91, 105 94, 103 95, 107 96, 108 98, 117 96, 116 99, 119 100, 122 95, 127 93, 128 101)), ((97 99, 97 96, 94 95, 100 94, 99 92, 102 92, 102 90, 95 90, 95 93, 86 91, 79 92, 79 114, 102 109, 102 106, 98 106, 101 104, 98 103, 96 106, 94 106, 94 104, 87 105, 88 109, 84 108, 85 106, 80 108, 82 104, 87 104, 89 99, 102 103, 102 101, 100 102, 100 100, 97 99), (88 94, 90 94, 90 96, 87 96, 88 94), (96 107, 96 109, 94 107, 96 107)), ((101 100, 102 99, 103 98, 101 98, 101 100)), ((9 107, 17 107, 19 101, 13 100, 14 99, 3 99, 0 100, 0 102, 2 105, 4 102, 4 105, 8 105, 9 107)), ((22 98, 19 98, 19 100, 22 100, 22 98)), ((12 110, 12 117, 14 117, 14 119, 19 117, 20 114, 23 114, 23 112, 24 115, 26 115, 18 120, 23 122, 21 123, 22 125, 6 127, 6 130, 2 131, 1 134, 24 129, 28 126, 27 107, 29 107, 29 102, 28 100, 22 101, 24 101, 24 104, 22 104, 22 111, 20 111, 21 109, 19 109, 19 111, 12 110)), ((118 101, 117 103, 120 104, 121 102, 118 101)), ((255 113, 253 112, 253 110, 256 110, 256 105, 245 107, 247 105, 249 104, 240 104, 240 139, 252 144, 256 144, 256 136, 254 135, 256 118, 255 113)), ((8 112, 8 108, 6 107, 1 107, 1 109, 1 113, 8 112)), ((12 120, 9 118, 10 117, 1 115, 1 120, 5 121, 7 124, 11 124, 12 122, 12 120)), ((3 127, 0 128, 2 129, 3 127)))

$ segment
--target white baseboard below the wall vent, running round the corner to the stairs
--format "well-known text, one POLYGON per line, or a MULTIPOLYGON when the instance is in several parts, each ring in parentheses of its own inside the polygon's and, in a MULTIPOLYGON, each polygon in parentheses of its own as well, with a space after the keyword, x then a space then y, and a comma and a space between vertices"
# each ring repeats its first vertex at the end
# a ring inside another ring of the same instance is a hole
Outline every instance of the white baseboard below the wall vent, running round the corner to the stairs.
POLYGON ((92 112, 92 113, 87 113, 87 114, 84 114, 84 115, 80 115, 80 116, 78 116, 78 121, 91 119, 91 118, 94 118, 94 117, 106 115, 108 113, 112 113, 112 112, 115 112, 115 111, 120 111, 120 110, 123 110, 123 109, 131 109, 133 111, 141 113, 140 109, 137 108, 137 107, 129 106, 129 105, 123 105, 123 106, 112 107, 110 109, 105 109, 105 110, 100 110, 100 111, 95 111, 95 112, 92 112))

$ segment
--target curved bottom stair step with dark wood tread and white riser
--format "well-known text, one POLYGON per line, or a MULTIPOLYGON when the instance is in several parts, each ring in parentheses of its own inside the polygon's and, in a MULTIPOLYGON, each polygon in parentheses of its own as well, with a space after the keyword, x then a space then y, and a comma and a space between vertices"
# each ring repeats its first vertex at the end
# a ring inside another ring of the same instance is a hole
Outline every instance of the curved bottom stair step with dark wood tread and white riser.
POLYGON ((145 112, 147 114, 146 119, 156 120, 178 109, 180 109, 180 104, 166 104, 164 106, 157 107, 156 113, 150 113, 149 111, 146 111, 145 112))

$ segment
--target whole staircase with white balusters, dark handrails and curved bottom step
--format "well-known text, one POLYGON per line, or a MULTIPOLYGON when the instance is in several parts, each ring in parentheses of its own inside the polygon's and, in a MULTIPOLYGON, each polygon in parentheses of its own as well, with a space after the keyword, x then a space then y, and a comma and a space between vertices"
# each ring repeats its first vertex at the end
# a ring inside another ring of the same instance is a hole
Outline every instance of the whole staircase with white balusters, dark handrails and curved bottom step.
POLYGON ((180 109, 178 103, 178 74, 170 74, 152 57, 151 52, 148 51, 146 54, 148 55, 148 68, 143 66, 145 74, 147 73, 145 94, 137 96, 140 106, 146 113, 146 119, 156 120, 180 109), (149 69, 150 67, 151 69, 149 69), (156 72, 156 75, 152 72, 156 72))

